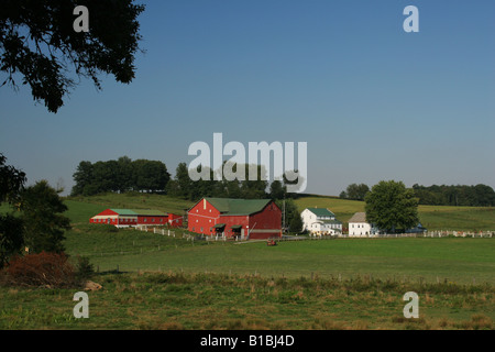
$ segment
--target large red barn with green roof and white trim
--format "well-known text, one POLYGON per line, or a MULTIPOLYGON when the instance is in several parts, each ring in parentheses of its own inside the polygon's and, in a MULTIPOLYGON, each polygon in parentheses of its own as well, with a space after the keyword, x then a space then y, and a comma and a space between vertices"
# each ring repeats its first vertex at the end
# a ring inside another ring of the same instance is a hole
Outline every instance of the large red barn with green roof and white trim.
POLYGON ((282 211, 270 199, 204 198, 188 211, 188 230, 226 239, 282 237, 282 211))

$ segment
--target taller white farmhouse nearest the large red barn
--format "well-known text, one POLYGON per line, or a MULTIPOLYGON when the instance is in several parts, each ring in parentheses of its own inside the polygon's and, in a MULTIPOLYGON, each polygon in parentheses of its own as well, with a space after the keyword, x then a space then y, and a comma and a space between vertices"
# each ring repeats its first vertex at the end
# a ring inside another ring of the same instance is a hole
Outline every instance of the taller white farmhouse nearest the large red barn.
POLYGON ((302 231, 311 234, 341 234, 342 222, 336 219, 336 215, 323 208, 307 208, 301 213, 302 231))

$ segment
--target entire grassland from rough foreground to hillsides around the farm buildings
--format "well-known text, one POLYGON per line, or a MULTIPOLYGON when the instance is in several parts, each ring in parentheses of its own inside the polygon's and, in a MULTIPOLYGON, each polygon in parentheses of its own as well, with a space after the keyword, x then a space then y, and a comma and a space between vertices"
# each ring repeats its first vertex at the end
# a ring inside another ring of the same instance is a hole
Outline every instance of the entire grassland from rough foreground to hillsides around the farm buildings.
MULTIPOLYGON (((328 197, 296 202, 328 207, 342 221, 364 207, 328 197)), ((89 257, 103 285, 90 293, 90 319, 73 317, 74 289, 0 287, 0 329, 494 328, 495 239, 191 242, 184 230, 173 238, 88 223, 107 208, 179 212, 191 202, 106 195, 66 204, 67 253, 89 257), (402 315, 408 290, 420 296, 420 319, 402 315)), ((421 207, 420 215, 438 229, 494 223, 492 208, 421 207)))

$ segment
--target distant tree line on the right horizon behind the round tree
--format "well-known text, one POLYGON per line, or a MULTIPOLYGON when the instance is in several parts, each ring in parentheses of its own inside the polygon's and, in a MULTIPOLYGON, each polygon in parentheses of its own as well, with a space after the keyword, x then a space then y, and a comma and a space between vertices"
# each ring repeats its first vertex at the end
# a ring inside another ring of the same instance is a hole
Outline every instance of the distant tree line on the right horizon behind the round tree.
MULTIPOLYGON (((459 207, 494 207, 495 191, 486 185, 458 186, 420 186, 411 188, 419 205, 424 206, 459 206, 459 207)), ((364 200, 371 191, 365 184, 351 184, 340 194, 342 199, 364 200)))

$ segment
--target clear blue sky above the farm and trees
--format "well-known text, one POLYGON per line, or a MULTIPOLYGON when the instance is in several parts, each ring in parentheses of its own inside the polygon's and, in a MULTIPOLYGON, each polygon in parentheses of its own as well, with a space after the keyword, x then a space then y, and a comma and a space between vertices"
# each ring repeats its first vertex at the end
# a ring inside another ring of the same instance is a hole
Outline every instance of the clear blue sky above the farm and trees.
MULTIPOLYGON (((136 78, 82 80, 57 114, 0 88, 0 151, 30 183, 193 142, 307 142, 307 193, 382 179, 495 188, 494 1, 150 0, 136 78), (406 33, 406 6, 419 33, 406 33)), ((91 10, 90 15, 91 15, 91 10)))

